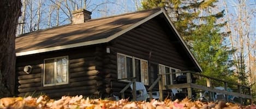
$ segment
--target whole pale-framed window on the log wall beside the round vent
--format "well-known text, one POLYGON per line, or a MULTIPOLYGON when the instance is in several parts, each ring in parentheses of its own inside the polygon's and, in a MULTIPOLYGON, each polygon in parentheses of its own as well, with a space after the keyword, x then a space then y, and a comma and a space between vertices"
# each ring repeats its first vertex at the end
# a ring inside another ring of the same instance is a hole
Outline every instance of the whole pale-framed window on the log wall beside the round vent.
POLYGON ((44 86, 68 84, 68 56, 44 60, 44 86))

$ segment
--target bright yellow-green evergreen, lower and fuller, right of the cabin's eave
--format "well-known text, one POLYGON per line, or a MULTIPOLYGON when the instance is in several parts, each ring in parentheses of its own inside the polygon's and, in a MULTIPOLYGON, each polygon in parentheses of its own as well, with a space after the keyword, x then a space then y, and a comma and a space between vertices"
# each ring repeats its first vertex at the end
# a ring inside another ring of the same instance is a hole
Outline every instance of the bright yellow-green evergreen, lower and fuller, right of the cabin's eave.
MULTIPOLYGON (((192 31, 192 52, 197 57, 203 74, 235 82, 235 76, 230 61, 233 50, 223 43, 223 36, 215 28, 215 17, 207 17, 205 24, 201 24, 192 31)), ((223 86, 220 82, 213 82, 212 86, 223 86)))

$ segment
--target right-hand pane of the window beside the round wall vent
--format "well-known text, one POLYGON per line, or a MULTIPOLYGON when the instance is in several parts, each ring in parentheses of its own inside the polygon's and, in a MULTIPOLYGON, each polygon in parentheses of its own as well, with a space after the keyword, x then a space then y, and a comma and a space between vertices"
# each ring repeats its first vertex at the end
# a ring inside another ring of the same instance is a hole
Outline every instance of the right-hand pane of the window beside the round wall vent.
POLYGON ((57 59, 56 83, 67 82, 68 60, 66 57, 57 59))

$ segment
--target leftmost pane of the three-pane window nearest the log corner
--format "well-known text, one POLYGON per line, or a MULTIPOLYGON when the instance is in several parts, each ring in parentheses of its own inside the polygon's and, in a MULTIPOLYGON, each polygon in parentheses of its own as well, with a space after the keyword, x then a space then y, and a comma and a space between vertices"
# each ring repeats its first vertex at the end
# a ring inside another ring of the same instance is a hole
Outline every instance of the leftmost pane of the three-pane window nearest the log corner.
POLYGON ((126 78, 124 56, 117 54, 117 75, 118 79, 126 78))

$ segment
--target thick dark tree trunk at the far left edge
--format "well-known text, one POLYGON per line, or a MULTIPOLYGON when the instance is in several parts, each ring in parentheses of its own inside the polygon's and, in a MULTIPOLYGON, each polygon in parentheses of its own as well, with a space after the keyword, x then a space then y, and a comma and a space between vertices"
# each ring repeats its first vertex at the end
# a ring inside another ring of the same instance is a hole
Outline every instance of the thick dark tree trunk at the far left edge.
POLYGON ((15 33, 21 15, 21 1, 0 2, 0 97, 14 95, 15 33))

